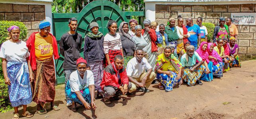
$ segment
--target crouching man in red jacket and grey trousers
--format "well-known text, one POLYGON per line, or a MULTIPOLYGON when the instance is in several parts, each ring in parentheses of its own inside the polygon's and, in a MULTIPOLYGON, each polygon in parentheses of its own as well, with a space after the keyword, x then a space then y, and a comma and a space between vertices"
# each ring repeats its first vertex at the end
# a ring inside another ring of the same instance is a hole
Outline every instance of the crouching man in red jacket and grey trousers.
POLYGON ((132 88, 123 63, 123 57, 117 55, 114 58, 114 62, 110 63, 104 70, 100 86, 104 91, 103 100, 105 104, 111 104, 111 97, 114 96, 114 98, 119 99, 119 96, 125 95, 132 88))

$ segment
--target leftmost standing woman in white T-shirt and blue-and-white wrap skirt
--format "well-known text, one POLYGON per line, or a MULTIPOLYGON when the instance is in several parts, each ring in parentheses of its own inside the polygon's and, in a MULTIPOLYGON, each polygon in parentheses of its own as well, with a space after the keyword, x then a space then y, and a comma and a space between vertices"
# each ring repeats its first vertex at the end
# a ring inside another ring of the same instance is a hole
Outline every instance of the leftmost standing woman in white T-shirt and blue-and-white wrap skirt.
POLYGON ((11 26, 8 28, 9 38, 0 50, 4 82, 8 85, 8 93, 12 107, 14 107, 13 119, 19 119, 18 107, 23 106, 22 116, 33 117, 27 111, 27 104, 32 102, 32 91, 30 82, 33 81, 33 71, 30 66, 30 53, 26 42, 19 39, 20 28, 11 26))

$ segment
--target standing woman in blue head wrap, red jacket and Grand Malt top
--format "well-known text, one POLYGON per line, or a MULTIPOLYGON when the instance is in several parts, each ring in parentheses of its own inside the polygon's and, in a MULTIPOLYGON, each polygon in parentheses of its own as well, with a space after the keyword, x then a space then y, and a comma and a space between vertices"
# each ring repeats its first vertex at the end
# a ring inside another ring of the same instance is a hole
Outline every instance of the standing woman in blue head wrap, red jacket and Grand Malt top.
POLYGON ((58 59, 56 38, 49 33, 51 24, 48 21, 39 23, 40 32, 30 35, 26 44, 30 52, 30 64, 34 72, 32 81, 33 101, 37 103, 37 113, 47 113, 46 102, 51 102, 51 109, 57 111, 55 98, 55 67, 54 59, 58 59))

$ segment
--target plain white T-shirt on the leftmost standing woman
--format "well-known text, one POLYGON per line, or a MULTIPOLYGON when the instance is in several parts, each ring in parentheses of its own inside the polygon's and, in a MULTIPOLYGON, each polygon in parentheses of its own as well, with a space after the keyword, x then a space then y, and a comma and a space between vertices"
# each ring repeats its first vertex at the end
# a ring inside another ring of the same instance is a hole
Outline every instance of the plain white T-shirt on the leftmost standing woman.
POLYGON ((26 42, 11 42, 10 40, 5 41, 0 49, 0 58, 5 58, 10 62, 25 62, 26 58, 30 56, 26 42))

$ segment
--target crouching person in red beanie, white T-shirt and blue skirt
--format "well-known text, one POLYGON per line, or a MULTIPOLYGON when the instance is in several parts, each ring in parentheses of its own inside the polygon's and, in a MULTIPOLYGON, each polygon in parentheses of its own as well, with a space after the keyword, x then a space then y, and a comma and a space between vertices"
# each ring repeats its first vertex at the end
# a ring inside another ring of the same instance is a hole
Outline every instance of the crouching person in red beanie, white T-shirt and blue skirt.
POLYGON ((93 72, 87 70, 87 61, 79 58, 77 70, 71 73, 65 88, 67 96, 72 100, 72 111, 77 111, 76 103, 84 105, 86 109, 96 109, 94 91, 93 72))

